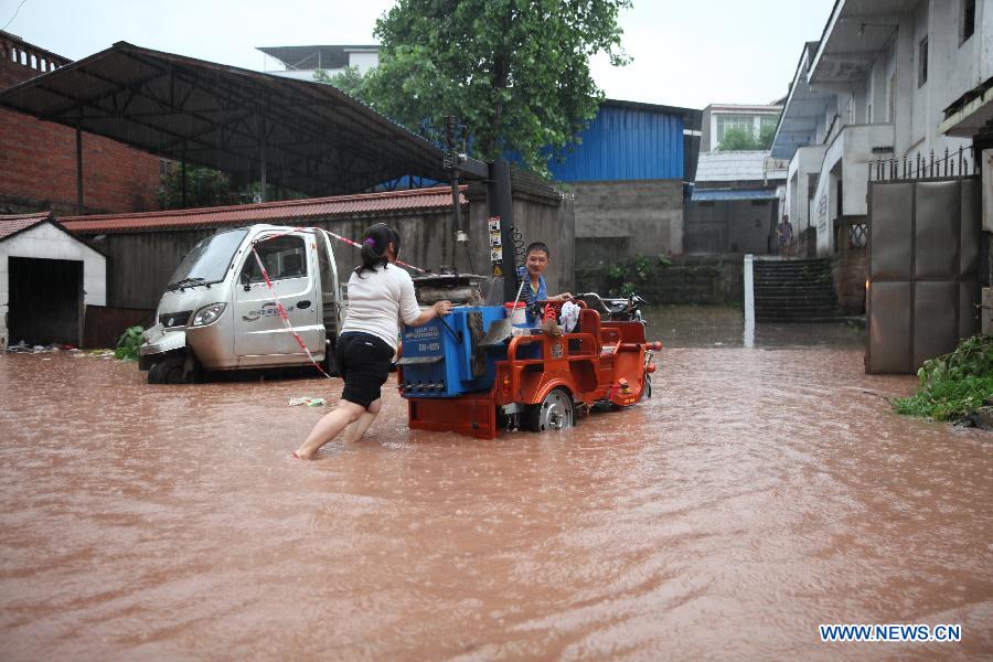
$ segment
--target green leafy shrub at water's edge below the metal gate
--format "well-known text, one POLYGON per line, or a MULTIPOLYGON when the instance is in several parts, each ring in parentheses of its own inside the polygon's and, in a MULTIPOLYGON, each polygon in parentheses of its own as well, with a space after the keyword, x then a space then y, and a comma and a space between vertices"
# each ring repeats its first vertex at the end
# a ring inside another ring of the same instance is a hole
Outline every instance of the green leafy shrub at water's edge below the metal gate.
POLYGON ((993 335, 974 335, 954 352, 925 361, 917 377, 915 395, 894 398, 898 414, 961 420, 993 395, 993 335))

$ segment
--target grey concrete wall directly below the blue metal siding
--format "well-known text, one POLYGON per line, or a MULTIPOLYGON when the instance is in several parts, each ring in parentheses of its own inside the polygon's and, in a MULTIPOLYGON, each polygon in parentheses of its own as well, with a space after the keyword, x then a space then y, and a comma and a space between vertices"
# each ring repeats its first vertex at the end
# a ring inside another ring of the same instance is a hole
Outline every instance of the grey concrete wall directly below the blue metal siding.
POLYGON ((680 181, 569 182, 559 186, 573 199, 577 264, 683 252, 680 181))

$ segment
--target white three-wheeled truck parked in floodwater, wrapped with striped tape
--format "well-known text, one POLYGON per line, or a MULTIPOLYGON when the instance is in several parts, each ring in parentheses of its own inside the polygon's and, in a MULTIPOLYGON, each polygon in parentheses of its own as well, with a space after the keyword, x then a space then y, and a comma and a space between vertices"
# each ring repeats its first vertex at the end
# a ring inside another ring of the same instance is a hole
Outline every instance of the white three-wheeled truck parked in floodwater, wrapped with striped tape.
POLYGON ((139 369, 150 384, 178 384, 206 371, 309 364, 274 290, 300 341, 330 373, 345 305, 331 237, 277 225, 218 232, 183 258, 145 332, 139 369))

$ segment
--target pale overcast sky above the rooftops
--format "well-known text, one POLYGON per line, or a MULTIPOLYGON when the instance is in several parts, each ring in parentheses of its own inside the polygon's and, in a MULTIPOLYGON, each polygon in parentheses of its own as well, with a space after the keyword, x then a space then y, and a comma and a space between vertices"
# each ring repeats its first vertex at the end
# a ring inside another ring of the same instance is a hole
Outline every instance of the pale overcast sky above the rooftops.
MULTIPOLYGON (((636 0, 623 68, 594 62, 609 98, 703 108, 784 96, 834 0, 636 0)), ((387 0, 0 0, 0 26, 73 60, 117 41, 263 71, 256 46, 374 43, 387 0), (20 6, 20 9, 18 7, 20 6), (17 15, 14 13, 17 12, 17 15), (11 20, 13 19, 13 20, 11 20)))

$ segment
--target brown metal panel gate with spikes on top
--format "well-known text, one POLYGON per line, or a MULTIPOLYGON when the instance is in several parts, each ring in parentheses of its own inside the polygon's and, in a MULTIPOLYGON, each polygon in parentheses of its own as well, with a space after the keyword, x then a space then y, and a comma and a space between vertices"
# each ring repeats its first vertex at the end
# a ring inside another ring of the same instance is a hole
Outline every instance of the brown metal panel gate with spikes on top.
POLYGON ((976 332, 980 193, 961 151, 869 164, 867 373, 914 374, 976 332))

